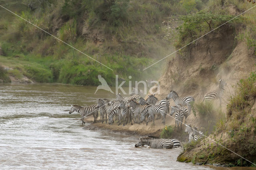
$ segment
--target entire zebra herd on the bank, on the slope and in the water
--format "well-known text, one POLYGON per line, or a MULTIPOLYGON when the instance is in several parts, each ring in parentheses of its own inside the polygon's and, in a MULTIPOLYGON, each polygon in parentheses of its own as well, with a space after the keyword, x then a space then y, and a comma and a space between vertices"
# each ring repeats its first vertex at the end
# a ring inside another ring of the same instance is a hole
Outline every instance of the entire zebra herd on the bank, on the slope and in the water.
MULTIPOLYGON (((206 93, 204 95, 204 100, 215 100, 219 99, 221 104, 221 98, 224 92, 224 86, 226 83, 223 80, 220 80, 219 86, 216 90, 206 93)), ((157 118, 162 117, 162 123, 165 124, 166 114, 170 113, 170 116, 174 115, 175 118, 175 128, 179 125, 182 129, 182 123, 185 119, 190 115, 191 113, 191 102, 194 102, 194 97, 192 96, 185 96, 185 97, 179 97, 177 92, 174 90, 171 90, 170 93, 167 95, 166 98, 163 98, 162 100, 158 100, 155 95, 148 95, 148 98, 145 100, 143 98, 144 92, 143 90, 138 90, 137 88, 133 88, 131 96, 130 97, 123 97, 120 94, 116 94, 116 100, 108 100, 105 98, 98 99, 98 104, 94 104, 87 107, 82 107, 78 105, 72 105, 69 113, 76 111, 80 114, 82 124, 84 124, 84 118, 86 116, 93 115, 94 117, 94 123, 96 122, 98 118, 98 114, 100 113, 100 119, 101 122, 108 124, 114 124, 114 117, 115 120, 118 120, 118 126, 131 123, 131 125, 134 123, 140 124, 141 122, 145 121, 146 125, 148 125, 148 122, 150 120, 154 123, 154 118, 157 116, 157 118), (176 106, 171 106, 170 110, 170 102, 169 100, 172 99, 176 106), (108 117, 108 119, 107 119, 108 117), (147 118, 147 120, 146 120, 147 118)), ((203 102, 204 102, 203 100, 203 102)), ((202 138, 203 133, 198 131, 197 128, 192 128, 190 125, 186 125, 185 132, 188 133, 188 139, 189 142, 192 140, 198 140, 202 138)), ((166 140, 166 143, 161 143, 160 145, 155 145, 156 141, 161 141, 163 139, 156 138, 156 137, 146 137, 141 138, 140 142, 136 144, 135 146, 142 146, 144 144, 148 145, 150 147, 163 147, 163 148, 172 148, 173 147, 173 141, 166 140)))

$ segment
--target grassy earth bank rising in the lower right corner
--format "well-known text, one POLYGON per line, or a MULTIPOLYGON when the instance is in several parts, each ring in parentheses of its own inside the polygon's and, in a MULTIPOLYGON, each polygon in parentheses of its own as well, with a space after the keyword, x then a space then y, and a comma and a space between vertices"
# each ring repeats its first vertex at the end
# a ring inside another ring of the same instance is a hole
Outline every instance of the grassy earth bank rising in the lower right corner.
MULTIPOLYGON (((235 95, 230 97, 227 104, 227 117, 219 111, 215 131, 210 135, 210 138, 216 142, 251 162, 256 162, 255 87, 256 71, 251 72, 247 79, 240 80, 235 95)), ((198 109, 201 108, 203 107, 200 106, 198 109)), ((207 113, 204 112, 203 115, 207 113)), ((226 166, 252 166, 250 162, 206 138, 200 142, 186 144, 184 149, 184 153, 179 156, 182 160, 193 160, 192 162, 204 164, 220 163, 226 166), (194 156, 195 153, 199 156, 194 156)))

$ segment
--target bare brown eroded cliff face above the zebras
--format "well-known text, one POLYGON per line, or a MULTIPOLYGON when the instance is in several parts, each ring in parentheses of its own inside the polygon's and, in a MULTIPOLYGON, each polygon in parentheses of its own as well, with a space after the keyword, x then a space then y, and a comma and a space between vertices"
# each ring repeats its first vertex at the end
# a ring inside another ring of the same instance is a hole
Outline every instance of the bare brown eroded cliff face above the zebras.
MULTIPOLYGON (((242 31, 242 26, 223 26, 171 56, 166 72, 159 79, 161 92, 157 97, 166 98, 170 90, 175 90, 180 97, 191 95, 195 102, 202 102, 204 94, 215 90, 218 80, 223 79, 227 83, 222 99, 222 111, 225 112, 234 86, 255 69, 256 56, 253 50, 235 38, 242 31)), ((174 102, 170 102, 173 106, 174 102)), ((214 102, 214 107, 220 107, 219 101, 214 102)), ((195 121, 193 114, 188 116, 185 123, 203 128, 202 122, 195 121)), ((171 124, 175 124, 174 120, 171 124)))

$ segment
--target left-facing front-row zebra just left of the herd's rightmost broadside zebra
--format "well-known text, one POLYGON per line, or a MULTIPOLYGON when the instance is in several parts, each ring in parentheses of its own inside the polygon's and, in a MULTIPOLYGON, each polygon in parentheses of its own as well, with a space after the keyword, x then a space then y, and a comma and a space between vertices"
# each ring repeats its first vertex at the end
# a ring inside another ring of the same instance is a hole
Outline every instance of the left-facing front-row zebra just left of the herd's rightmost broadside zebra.
MULTIPOLYGON (((131 108, 131 111, 133 113, 132 119, 139 119, 140 113, 143 111, 146 112, 146 109, 150 107, 150 105, 140 105, 135 100, 129 100, 128 106, 131 108)), ((140 124, 140 121, 136 121, 138 124, 140 124)))

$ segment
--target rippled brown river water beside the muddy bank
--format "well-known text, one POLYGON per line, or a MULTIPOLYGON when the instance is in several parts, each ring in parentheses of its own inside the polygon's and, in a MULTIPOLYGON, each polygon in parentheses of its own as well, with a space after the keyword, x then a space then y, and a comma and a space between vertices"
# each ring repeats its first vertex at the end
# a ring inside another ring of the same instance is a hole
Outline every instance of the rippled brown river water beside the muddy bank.
MULTIPOLYGON (((96 87, 0 84, 0 170, 246 170, 177 162, 181 148, 135 148, 139 136, 85 130, 71 104, 115 98, 96 87)), ((127 90, 127 89, 126 89, 127 90)), ((86 123, 84 126, 88 126, 86 123)))

